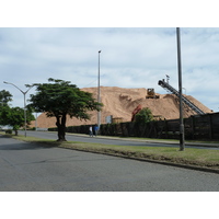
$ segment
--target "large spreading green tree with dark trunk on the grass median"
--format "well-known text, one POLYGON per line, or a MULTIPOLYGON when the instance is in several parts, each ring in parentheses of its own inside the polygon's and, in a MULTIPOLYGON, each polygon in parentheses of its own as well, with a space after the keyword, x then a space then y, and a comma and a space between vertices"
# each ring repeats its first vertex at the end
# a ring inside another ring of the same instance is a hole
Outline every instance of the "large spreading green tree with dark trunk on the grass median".
POLYGON ((101 103, 95 102, 92 94, 80 91, 70 81, 48 79, 51 83, 35 83, 36 94, 31 95, 31 104, 35 112, 45 112, 48 117, 56 117, 58 140, 66 140, 67 115, 71 118, 90 119, 89 111, 101 111, 101 103))

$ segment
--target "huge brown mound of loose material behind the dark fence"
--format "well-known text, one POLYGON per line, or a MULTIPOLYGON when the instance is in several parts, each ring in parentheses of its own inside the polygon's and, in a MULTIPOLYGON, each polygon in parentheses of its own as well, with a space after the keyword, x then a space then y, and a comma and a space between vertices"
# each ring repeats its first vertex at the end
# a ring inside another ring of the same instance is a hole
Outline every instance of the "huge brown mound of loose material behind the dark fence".
MULTIPOLYGON (((96 88, 81 89, 93 93, 93 97, 97 96, 96 88)), ((117 87, 101 87, 101 101, 104 104, 103 111, 101 112, 102 124, 105 124, 105 117, 112 115, 115 117, 122 117, 123 122, 130 122, 132 111, 140 104, 142 107, 149 107, 154 116, 162 116, 165 119, 178 118, 178 99, 173 94, 157 94, 160 99, 146 99, 147 89, 123 89, 117 87)), ((198 106, 205 113, 211 111, 198 102, 193 96, 186 96, 191 102, 198 106)), ((97 113, 90 112, 90 120, 80 120, 76 118, 67 119, 67 126, 89 125, 96 124, 97 113)), ((194 115, 195 113, 189 108, 185 107, 184 117, 194 115)), ((35 126, 35 122, 33 123, 35 126)), ((37 127, 49 128, 56 127, 55 118, 47 118, 45 113, 37 117, 37 127)))

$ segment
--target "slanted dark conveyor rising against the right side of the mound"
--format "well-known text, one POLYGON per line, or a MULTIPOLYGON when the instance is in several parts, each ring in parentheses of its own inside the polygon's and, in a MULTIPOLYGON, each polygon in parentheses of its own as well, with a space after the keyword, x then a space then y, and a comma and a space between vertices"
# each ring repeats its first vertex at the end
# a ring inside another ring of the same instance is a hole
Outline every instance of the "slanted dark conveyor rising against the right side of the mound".
MULTIPOLYGON (((177 97, 180 97, 180 93, 169 83, 165 82, 165 80, 160 80, 158 82, 159 85, 161 85, 163 89, 166 89, 168 91, 172 92, 175 94, 177 97)), ((196 112, 199 115, 205 114, 200 108, 198 108, 194 103, 192 103, 188 99, 186 99, 184 95, 182 95, 182 101, 189 106, 194 112, 196 112)))

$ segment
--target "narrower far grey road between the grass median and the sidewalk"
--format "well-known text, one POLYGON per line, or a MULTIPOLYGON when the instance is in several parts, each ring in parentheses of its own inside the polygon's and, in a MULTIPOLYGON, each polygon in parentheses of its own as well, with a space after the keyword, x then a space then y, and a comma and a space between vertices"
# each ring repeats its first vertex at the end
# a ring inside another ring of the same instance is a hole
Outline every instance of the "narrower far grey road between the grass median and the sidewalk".
MULTIPOLYGON (((19 131, 19 135, 24 135, 24 131, 19 131)), ((48 131, 27 131, 27 136, 32 137, 38 137, 43 139, 57 139, 57 132, 48 132, 48 131)), ((124 139, 118 139, 118 138, 108 138, 108 137, 89 137, 83 135, 83 136, 77 136, 77 135, 71 135, 67 134, 66 139, 68 141, 80 141, 80 142, 94 142, 94 143, 105 143, 105 145, 116 145, 116 146, 148 146, 148 147, 175 147, 178 148, 180 146, 177 143, 163 143, 163 142, 148 142, 148 141, 142 141, 142 140, 126 140, 124 139)), ((186 148, 199 148, 199 149, 206 149, 206 147, 197 147, 197 146, 187 146, 186 148)), ((207 149, 212 149, 212 150, 219 150, 219 148, 207 148, 207 149)))

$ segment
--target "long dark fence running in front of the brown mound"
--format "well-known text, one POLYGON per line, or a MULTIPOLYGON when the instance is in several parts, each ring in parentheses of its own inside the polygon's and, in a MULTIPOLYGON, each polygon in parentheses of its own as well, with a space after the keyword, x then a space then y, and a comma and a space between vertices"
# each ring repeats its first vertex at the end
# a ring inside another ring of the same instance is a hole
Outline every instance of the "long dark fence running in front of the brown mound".
MULTIPOLYGON (((90 125, 67 127, 67 132, 89 134, 90 125)), ((185 139, 219 140, 219 113, 184 118, 185 139)), ((49 130, 57 130, 49 128, 49 130)), ((180 138, 180 120, 154 120, 143 125, 119 123, 101 125, 103 136, 146 137, 162 139, 180 138)))

